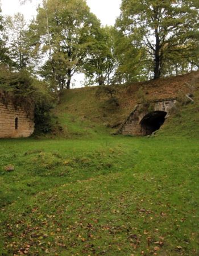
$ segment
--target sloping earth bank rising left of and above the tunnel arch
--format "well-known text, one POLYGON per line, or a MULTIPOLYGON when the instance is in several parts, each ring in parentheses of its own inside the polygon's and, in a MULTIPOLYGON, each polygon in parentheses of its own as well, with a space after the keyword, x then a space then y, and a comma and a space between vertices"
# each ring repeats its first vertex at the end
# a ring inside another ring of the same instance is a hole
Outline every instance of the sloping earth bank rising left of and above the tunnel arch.
POLYGON ((108 104, 106 94, 96 95, 98 87, 66 90, 55 110, 59 123, 64 127, 67 138, 95 137, 102 133, 113 132, 143 100, 182 97, 189 92, 189 84, 196 84, 199 72, 188 75, 140 82, 132 85, 115 86, 115 97, 119 106, 108 104), (142 88, 142 89, 140 89, 142 88), (115 129, 106 129, 115 127, 115 129))

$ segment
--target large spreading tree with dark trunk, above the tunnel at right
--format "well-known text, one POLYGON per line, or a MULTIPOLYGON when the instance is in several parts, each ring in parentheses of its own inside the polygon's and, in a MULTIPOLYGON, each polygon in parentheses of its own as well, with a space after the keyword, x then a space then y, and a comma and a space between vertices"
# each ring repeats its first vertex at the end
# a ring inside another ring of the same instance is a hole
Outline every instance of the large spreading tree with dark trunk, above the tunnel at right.
POLYGON ((165 63, 193 55, 198 34, 196 0, 123 0, 117 30, 136 47, 147 49, 154 79, 161 76, 165 63), (180 57, 179 57, 180 56, 180 57))

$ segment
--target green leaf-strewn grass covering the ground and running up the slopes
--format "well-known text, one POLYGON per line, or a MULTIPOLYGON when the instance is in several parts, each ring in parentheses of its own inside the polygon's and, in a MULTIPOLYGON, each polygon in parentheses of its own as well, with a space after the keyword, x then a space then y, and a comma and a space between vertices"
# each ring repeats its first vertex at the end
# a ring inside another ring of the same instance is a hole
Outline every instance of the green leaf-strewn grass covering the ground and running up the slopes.
POLYGON ((198 255, 197 93, 133 138, 109 135, 119 112, 104 117, 91 90, 56 109, 68 139, 0 141, 0 167, 15 166, 0 169, 0 255, 198 255))

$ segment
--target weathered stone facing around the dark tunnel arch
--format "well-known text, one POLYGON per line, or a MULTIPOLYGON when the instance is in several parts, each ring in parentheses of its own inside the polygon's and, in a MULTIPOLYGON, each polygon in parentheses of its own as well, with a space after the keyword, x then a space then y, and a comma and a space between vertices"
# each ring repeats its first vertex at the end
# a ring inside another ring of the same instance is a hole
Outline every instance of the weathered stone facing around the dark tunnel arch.
POLYGON ((126 121, 123 123, 118 133, 123 135, 146 135, 146 131, 143 130, 140 122, 149 113, 152 112, 166 112, 165 118, 169 117, 169 111, 175 106, 176 98, 151 101, 138 104, 135 106, 134 111, 128 116, 126 121))

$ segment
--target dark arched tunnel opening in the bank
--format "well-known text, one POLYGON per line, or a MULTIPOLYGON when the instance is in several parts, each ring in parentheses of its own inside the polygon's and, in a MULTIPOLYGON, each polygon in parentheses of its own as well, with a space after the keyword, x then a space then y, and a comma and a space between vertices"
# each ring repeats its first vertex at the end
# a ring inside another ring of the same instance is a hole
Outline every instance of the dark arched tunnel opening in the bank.
POLYGON ((154 131, 159 130, 166 115, 167 112, 164 111, 154 111, 145 115, 140 122, 142 135, 151 135, 154 131))

